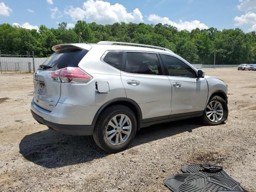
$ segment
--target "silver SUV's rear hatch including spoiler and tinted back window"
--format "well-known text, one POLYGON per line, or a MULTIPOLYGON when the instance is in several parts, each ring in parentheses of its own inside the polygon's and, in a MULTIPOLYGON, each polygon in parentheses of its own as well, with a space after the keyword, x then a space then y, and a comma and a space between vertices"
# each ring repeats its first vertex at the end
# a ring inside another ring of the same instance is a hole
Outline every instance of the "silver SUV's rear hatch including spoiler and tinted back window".
POLYGON ((34 73, 34 102, 48 111, 52 111, 60 99, 61 82, 53 81, 51 74, 66 67, 78 67, 88 50, 72 44, 57 45, 56 51, 34 73))

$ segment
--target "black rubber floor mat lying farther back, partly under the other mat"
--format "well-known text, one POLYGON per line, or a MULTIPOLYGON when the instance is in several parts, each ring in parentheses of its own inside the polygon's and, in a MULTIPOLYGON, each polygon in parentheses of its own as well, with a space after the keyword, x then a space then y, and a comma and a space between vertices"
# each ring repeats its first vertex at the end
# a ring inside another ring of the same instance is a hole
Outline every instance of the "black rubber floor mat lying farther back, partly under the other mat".
MULTIPOLYGON (((217 176, 222 176, 225 178, 230 178, 230 176, 228 174, 226 174, 226 172, 224 170, 220 170, 216 173, 211 173, 211 172, 207 172, 204 171, 202 166, 208 166, 209 164, 192 164, 192 165, 184 165, 181 167, 181 170, 183 173, 200 173, 200 174, 204 174, 206 176, 211 176, 211 175, 217 175, 217 176)), ((211 166, 217 166, 214 164, 210 164, 211 166)))

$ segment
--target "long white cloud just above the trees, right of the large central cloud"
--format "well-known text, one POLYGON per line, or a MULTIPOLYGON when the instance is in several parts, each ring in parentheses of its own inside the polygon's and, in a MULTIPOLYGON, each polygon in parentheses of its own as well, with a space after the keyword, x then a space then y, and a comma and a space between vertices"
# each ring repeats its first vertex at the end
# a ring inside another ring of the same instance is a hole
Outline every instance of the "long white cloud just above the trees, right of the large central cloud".
POLYGON ((160 17, 156 14, 150 14, 148 16, 148 20, 153 22, 154 24, 162 23, 175 26, 178 30, 188 30, 191 31, 192 29, 199 28, 199 29, 208 29, 204 23, 201 23, 198 20, 193 21, 182 21, 180 20, 178 23, 171 21, 168 17, 160 17))

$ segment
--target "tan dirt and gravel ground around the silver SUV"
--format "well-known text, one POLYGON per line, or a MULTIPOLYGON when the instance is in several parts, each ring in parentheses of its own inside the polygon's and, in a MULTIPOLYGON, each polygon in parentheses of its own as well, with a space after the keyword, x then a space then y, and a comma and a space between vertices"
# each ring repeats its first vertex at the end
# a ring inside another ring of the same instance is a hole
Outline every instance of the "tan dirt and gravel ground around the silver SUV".
POLYGON ((228 84, 226 124, 198 119, 141 129, 116 154, 91 136, 66 136, 30 114, 31 74, 0 74, 0 191, 169 192, 166 176, 185 164, 212 162, 256 191, 256 71, 205 69, 228 84))

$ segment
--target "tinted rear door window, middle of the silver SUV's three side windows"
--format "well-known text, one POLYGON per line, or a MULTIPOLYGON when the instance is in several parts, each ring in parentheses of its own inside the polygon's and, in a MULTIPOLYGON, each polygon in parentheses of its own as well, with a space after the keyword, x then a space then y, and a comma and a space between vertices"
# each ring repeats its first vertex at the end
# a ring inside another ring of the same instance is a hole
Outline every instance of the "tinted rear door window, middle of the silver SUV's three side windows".
POLYGON ((158 57, 154 53, 127 52, 125 71, 135 74, 162 75, 158 57))

